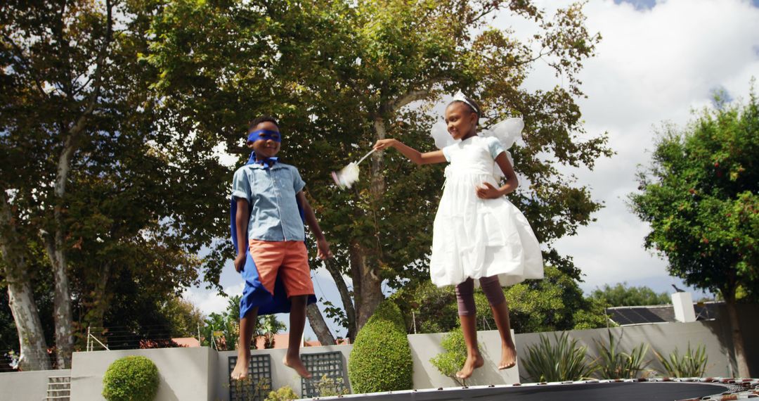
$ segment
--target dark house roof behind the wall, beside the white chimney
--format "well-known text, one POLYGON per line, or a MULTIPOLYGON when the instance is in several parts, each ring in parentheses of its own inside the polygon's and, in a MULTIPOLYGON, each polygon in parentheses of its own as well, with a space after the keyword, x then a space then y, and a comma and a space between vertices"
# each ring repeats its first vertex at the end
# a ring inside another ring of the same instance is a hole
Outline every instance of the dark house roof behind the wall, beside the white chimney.
MULTIPOLYGON (((724 302, 694 302, 696 320, 713 320, 718 317, 717 309, 724 302)), ((618 306, 606 308, 609 319, 620 326, 631 324, 674 323, 675 309, 672 305, 618 306)))

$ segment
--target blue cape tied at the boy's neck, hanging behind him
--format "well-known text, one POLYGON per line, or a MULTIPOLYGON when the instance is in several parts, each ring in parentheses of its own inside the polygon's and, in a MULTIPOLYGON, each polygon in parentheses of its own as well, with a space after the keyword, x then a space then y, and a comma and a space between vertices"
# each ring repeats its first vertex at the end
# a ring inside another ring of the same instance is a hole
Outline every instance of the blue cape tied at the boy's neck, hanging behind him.
MULTIPOLYGON (((255 162, 255 153, 250 154, 246 165, 255 162)), ((305 222, 305 214, 303 206, 298 199, 298 211, 301 213, 301 219, 305 222)), ((252 210, 252 207, 250 207, 252 210)), ((250 210, 248 215, 250 216, 250 210)), ((230 198, 230 216, 231 224, 229 228, 232 234, 232 243, 235 244, 235 251, 238 251, 238 239, 237 239, 237 224, 235 223, 235 216, 237 216, 237 202, 234 197, 230 198)), ((245 242, 247 243, 247 231, 245 242)), ((287 297, 285 291, 285 285, 282 283, 282 276, 277 273, 277 278, 274 283, 274 294, 272 295, 266 287, 261 283, 258 276, 258 269, 253 257, 250 256, 250 248, 246 247, 245 251, 245 265, 240 272, 245 280, 245 288, 242 291, 242 298, 240 299, 240 318, 250 312, 251 309, 258 307, 258 315, 262 314, 277 314, 277 313, 289 313, 291 302, 287 297)), ((317 302, 317 297, 314 295, 308 296, 308 304, 317 302)))

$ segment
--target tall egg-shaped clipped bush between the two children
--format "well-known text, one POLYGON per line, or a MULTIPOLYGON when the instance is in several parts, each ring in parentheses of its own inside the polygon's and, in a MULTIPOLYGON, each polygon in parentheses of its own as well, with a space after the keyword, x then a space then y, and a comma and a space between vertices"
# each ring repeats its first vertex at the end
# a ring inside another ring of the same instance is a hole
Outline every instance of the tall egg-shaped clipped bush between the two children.
POLYGON ((398 306, 379 304, 356 336, 348 360, 354 393, 410 390, 413 387, 411 347, 398 306))

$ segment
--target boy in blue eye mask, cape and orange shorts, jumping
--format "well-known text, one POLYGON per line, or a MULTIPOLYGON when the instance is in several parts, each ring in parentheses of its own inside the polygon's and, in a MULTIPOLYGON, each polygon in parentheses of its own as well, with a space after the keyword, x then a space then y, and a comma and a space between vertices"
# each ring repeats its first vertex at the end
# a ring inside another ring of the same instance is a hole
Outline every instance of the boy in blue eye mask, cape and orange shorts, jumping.
POLYGON ((317 239, 318 256, 326 259, 332 252, 303 194, 305 183, 298 169, 277 161, 281 143, 276 119, 256 118, 250 123, 247 139, 253 153, 232 182, 232 239, 238 250, 235 270, 245 279, 238 361, 231 373, 235 380, 247 377, 258 314, 286 311, 290 312, 290 340, 282 362, 301 377, 311 377, 300 357, 306 305, 316 301, 303 219, 317 239))

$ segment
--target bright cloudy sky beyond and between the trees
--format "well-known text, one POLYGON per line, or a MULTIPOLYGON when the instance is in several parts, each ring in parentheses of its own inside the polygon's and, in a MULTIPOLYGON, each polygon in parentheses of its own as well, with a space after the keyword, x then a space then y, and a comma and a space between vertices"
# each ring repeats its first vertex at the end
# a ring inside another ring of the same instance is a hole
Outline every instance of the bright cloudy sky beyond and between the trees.
MULTIPOLYGON (((571 2, 536 4, 553 14, 571 2)), ((616 283, 671 292, 674 284, 693 291, 694 298, 709 296, 669 276, 666 261, 644 249, 648 227, 625 201, 637 190, 638 166, 650 161, 657 128, 664 123, 685 128, 694 110, 711 105, 715 90, 725 90, 731 99, 748 99, 751 77, 759 78, 759 0, 590 0, 583 10, 588 31, 603 39, 594 58, 584 62, 579 77, 587 99, 578 103, 588 136, 607 132, 616 154, 598 159, 593 171, 562 169, 588 185, 604 207, 595 213, 597 221, 559 239, 556 249, 574 257, 584 273, 584 292, 616 283)), ((536 29, 506 13, 492 24, 511 28, 521 38, 536 29)), ((534 90, 556 84, 562 82, 553 71, 537 63, 524 85, 534 90)), ((314 271, 313 279, 317 298, 340 305, 325 270, 314 271)), ((231 260, 220 283, 230 294, 242 292, 231 260)), ((206 314, 227 305, 226 298, 204 289, 189 289, 185 298, 206 314)), ((336 334, 345 335, 345 330, 336 334)), ((306 336, 316 338, 308 325, 306 336)))

